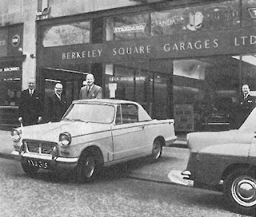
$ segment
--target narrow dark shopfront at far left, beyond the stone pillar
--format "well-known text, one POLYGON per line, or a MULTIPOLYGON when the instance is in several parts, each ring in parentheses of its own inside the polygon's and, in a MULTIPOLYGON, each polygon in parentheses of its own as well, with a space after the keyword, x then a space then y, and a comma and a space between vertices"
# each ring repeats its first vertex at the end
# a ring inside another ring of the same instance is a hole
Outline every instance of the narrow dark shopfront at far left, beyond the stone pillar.
POLYGON ((0 31, 0 128, 18 124, 22 92, 23 26, 6 26, 0 31))

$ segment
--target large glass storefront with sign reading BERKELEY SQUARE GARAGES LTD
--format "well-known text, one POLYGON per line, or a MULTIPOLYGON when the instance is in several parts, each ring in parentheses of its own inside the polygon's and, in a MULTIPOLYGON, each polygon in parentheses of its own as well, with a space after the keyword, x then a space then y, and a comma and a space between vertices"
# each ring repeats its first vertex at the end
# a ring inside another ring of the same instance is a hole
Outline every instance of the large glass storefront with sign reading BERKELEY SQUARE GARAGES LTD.
POLYGON ((138 101, 181 132, 230 112, 242 84, 256 90, 256 3, 159 3, 38 22, 38 85, 78 99, 85 73, 104 97, 138 101), (161 5, 162 4, 162 5, 161 5), (162 8, 162 10, 160 10, 162 8))

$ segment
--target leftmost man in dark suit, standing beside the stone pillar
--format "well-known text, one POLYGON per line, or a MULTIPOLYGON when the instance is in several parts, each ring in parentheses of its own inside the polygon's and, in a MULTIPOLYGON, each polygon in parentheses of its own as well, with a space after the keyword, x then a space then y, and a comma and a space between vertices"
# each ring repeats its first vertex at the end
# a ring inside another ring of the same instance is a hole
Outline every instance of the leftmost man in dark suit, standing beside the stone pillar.
POLYGON ((35 87, 35 79, 28 81, 29 88, 22 91, 18 107, 18 120, 24 126, 38 124, 42 120, 42 94, 35 87))

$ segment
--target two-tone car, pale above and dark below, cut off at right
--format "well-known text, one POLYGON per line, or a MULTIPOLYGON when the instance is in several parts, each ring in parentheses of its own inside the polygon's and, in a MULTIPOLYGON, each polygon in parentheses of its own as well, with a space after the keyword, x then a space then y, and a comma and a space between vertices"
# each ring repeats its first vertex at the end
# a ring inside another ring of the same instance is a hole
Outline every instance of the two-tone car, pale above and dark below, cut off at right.
POLYGON ((194 187, 222 191, 236 211, 256 207, 256 109, 242 126, 223 132, 187 135, 190 158, 182 172, 194 187))

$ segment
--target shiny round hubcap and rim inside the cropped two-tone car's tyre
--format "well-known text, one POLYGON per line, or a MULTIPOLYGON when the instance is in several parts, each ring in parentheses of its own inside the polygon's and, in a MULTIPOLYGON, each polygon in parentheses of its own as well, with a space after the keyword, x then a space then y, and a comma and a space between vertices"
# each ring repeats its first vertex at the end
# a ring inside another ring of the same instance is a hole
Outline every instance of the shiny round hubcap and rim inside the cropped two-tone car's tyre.
POLYGON ((234 180, 231 189, 234 200, 243 207, 253 207, 256 204, 256 180, 250 177, 239 177, 234 180))

